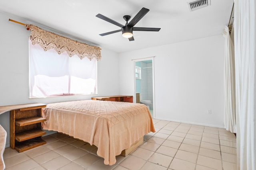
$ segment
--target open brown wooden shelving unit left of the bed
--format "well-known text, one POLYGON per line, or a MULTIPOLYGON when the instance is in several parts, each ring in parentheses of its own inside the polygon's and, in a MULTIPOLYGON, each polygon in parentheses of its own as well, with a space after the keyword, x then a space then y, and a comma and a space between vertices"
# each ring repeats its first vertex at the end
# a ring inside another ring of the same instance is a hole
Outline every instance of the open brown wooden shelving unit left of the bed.
MULTIPOLYGON (((8 106, 10 107, 10 106, 8 106)), ((23 152, 34 147, 46 144, 42 140, 41 123, 46 121, 42 118, 42 108, 46 104, 13 105, 10 109, 10 147, 18 152, 23 152)))

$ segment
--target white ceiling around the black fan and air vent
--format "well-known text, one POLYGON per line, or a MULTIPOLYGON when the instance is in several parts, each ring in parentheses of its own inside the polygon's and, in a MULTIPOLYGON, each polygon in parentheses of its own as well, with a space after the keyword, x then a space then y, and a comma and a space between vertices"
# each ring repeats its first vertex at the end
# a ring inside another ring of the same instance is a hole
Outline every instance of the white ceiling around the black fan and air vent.
POLYGON ((191 1, 193 0, 1 0, 0 12, 13 14, 27 23, 38 23, 37 26, 44 25, 89 44, 122 53, 220 35, 224 26, 229 23, 234 0, 211 0, 210 6, 190 12, 187 3, 191 1), (122 32, 99 35, 120 27, 97 18, 97 14, 125 25, 123 16, 130 15, 133 18, 142 7, 150 11, 135 27, 158 27, 161 28, 159 32, 134 31, 134 41, 122 37, 122 32))

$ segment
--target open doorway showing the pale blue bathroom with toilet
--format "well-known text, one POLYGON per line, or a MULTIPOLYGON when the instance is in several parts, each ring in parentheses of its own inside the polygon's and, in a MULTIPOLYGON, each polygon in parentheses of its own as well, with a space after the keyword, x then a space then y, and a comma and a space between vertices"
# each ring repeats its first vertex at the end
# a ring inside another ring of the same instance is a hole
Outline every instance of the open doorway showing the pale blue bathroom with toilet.
POLYGON ((145 104, 154 118, 154 57, 134 61, 136 103, 145 104))

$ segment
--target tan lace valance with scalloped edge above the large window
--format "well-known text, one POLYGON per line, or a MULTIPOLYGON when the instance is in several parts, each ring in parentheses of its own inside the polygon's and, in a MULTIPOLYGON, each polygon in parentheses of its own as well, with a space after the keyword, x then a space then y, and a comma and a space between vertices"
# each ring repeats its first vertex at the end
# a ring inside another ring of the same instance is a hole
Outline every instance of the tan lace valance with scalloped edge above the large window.
POLYGON ((27 28, 31 29, 30 40, 32 44, 39 44, 44 51, 54 49, 58 54, 66 51, 69 57, 77 55, 80 59, 87 57, 92 60, 93 58, 100 60, 100 47, 87 45, 75 40, 72 40, 49 31, 45 31, 35 25, 27 24, 27 28))

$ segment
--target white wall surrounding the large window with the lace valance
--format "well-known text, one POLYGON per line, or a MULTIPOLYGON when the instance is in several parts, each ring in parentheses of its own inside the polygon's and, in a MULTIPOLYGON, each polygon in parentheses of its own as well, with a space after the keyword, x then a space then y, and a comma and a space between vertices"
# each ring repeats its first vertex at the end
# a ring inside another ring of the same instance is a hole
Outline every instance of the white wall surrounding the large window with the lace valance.
MULTIPOLYGON (((119 94, 119 75, 116 71, 118 54, 102 49, 102 60, 98 61, 98 95, 29 99, 28 36, 30 31, 27 31, 23 25, 8 21, 9 18, 22 23, 31 23, 31 21, 0 13, 0 106, 28 103, 48 104, 119 94)), ((0 115, 0 124, 7 131, 6 146, 8 147, 10 146, 10 112, 0 115)))

